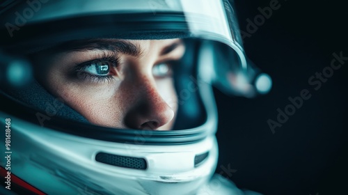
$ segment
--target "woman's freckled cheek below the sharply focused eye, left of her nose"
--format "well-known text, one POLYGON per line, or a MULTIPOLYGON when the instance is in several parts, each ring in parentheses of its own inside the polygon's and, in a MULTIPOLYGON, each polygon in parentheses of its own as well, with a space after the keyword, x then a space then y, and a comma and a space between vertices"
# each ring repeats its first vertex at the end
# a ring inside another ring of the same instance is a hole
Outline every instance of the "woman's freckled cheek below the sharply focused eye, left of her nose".
POLYGON ((107 127, 122 127, 122 100, 116 96, 118 86, 105 84, 76 84, 71 81, 53 81, 51 91, 63 98, 65 104, 84 116, 90 123, 107 127))

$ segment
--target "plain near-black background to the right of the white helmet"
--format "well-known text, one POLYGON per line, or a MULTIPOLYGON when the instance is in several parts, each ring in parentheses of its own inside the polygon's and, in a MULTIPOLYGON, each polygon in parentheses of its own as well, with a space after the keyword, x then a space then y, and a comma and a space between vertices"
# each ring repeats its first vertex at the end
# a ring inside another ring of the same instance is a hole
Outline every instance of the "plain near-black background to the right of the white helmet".
MULTIPOLYGON (((242 31, 267 1, 236 0, 242 31)), ((267 95, 230 98, 219 91, 220 157, 216 173, 239 188, 262 194, 348 194, 348 61, 315 91, 308 79, 331 64, 333 52, 348 56, 348 6, 345 1, 279 0, 258 31, 244 38, 248 57, 271 75, 267 95), (308 89, 303 106, 273 134, 287 98, 308 89), (235 169, 232 176, 221 166, 235 169)))

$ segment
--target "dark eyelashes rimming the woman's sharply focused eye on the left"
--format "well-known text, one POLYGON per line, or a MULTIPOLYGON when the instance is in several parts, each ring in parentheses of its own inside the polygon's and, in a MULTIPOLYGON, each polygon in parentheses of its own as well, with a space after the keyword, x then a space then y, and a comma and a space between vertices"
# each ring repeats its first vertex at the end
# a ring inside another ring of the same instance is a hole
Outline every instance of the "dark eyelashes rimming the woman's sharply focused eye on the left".
POLYGON ((84 72, 85 68, 93 65, 93 63, 101 61, 109 63, 110 68, 117 68, 120 65, 120 56, 118 56, 116 52, 103 53, 99 59, 93 59, 84 63, 76 64, 74 71, 76 72, 77 78, 83 80, 88 78, 90 81, 96 81, 97 83, 104 81, 111 83, 111 81, 113 81, 113 75, 91 75, 88 72, 84 72))

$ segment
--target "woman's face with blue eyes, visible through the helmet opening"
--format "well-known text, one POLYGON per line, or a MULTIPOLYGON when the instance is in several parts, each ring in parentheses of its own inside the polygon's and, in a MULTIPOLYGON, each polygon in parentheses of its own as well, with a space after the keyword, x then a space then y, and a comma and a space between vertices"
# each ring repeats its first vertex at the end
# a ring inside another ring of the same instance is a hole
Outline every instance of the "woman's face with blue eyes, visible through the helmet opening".
POLYGON ((46 72, 40 82, 90 123, 171 130, 177 112, 171 66, 184 49, 180 39, 74 41, 40 54, 46 72))

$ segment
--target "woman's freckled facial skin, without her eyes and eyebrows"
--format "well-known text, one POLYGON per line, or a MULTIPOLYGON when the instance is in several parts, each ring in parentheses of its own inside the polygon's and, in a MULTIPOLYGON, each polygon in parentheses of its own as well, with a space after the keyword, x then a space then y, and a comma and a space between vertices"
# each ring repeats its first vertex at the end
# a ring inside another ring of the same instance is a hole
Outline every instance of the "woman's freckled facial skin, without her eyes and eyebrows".
MULTIPOLYGON (((177 113, 177 94, 172 77, 152 74, 154 65, 178 60, 184 45, 168 54, 161 49, 178 40, 130 40, 141 56, 120 54, 120 67, 111 82, 90 82, 68 76, 73 65, 95 59, 96 51, 64 52, 45 58, 49 64, 41 82, 90 123, 106 127, 171 130, 177 113)), ((180 41, 180 40, 179 40, 180 41)))

